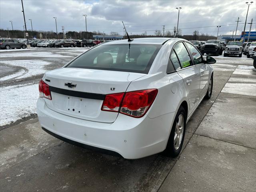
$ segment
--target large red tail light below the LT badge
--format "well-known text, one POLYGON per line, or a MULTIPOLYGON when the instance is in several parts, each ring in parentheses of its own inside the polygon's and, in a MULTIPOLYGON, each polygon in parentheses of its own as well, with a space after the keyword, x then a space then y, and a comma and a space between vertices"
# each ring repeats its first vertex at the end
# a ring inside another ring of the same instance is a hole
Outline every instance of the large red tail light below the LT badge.
POLYGON ((147 89, 109 94, 106 95, 101 109, 140 118, 146 114, 154 102, 157 93, 157 89, 147 89))

